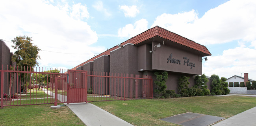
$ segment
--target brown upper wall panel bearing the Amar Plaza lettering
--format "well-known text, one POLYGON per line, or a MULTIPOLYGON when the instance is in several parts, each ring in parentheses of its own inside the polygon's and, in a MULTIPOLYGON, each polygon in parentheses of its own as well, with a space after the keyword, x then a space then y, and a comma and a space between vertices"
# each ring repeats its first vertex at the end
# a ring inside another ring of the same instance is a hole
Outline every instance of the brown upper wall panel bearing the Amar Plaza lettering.
POLYGON ((170 72, 180 72, 185 74, 201 75, 202 74, 202 62, 199 61, 202 57, 198 54, 193 54, 188 50, 182 50, 171 45, 163 45, 162 42, 152 42, 152 50, 154 45, 161 43, 161 47, 155 47, 155 51, 152 52, 152 69, 153 70, 166 70, 170 72), (167 63, 168 58, 172 54, 171 59, 179 60, 176 63, 167 63), (186 57, 189 59, 189 63, 195 63, 195 67, 187 66, 184 63, 186 57), (178 64, 177 64, 178 63, 178 64))

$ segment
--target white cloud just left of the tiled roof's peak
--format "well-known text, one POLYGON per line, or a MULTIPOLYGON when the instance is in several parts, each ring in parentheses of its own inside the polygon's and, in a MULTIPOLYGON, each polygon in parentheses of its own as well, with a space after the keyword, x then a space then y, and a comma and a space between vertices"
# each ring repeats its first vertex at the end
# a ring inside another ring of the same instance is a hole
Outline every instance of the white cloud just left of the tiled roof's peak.
POLYGON ((148 29, 148 21, 146 19, 138 20, 133 24, 125 25, 118 29, 118 37, 134 37, 141 32, 144 32, 148 29))

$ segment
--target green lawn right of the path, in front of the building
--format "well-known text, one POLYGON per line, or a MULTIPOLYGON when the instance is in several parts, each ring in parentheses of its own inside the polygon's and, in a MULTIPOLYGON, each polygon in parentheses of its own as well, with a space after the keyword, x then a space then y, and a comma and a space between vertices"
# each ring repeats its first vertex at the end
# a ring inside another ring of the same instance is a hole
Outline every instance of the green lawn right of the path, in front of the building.
POLYGON ((159 119, 194 112, 232 117, 256 106, 256 97, 183 97, 91 102, 133 125, 175 125, 159 119))

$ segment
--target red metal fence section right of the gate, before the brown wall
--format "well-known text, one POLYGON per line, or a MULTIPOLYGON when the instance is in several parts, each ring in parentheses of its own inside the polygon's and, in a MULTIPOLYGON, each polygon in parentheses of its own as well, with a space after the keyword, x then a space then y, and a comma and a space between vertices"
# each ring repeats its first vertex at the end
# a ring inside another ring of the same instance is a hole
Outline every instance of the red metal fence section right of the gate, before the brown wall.
POLYGON ((152 98, 152 77, 107 72, 88 73, 88 100, 111 101, 152 98))

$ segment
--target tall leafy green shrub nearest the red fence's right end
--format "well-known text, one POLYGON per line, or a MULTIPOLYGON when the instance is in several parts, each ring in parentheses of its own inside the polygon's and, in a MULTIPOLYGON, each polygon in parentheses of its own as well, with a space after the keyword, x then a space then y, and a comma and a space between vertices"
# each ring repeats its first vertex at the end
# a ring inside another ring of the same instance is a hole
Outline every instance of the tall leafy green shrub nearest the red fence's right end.
POLYGON ((165 71, 165 72, 155 72, 154 73, 156 75, 156 81, 155 84, 156 84, 156 89, 154 90, 154 92, 156 92, 156 97, 158 97, 158 94, 164 94, 165 93, 165 89, 166 89, 166 80, 168 79, 168 73, 165 71))

